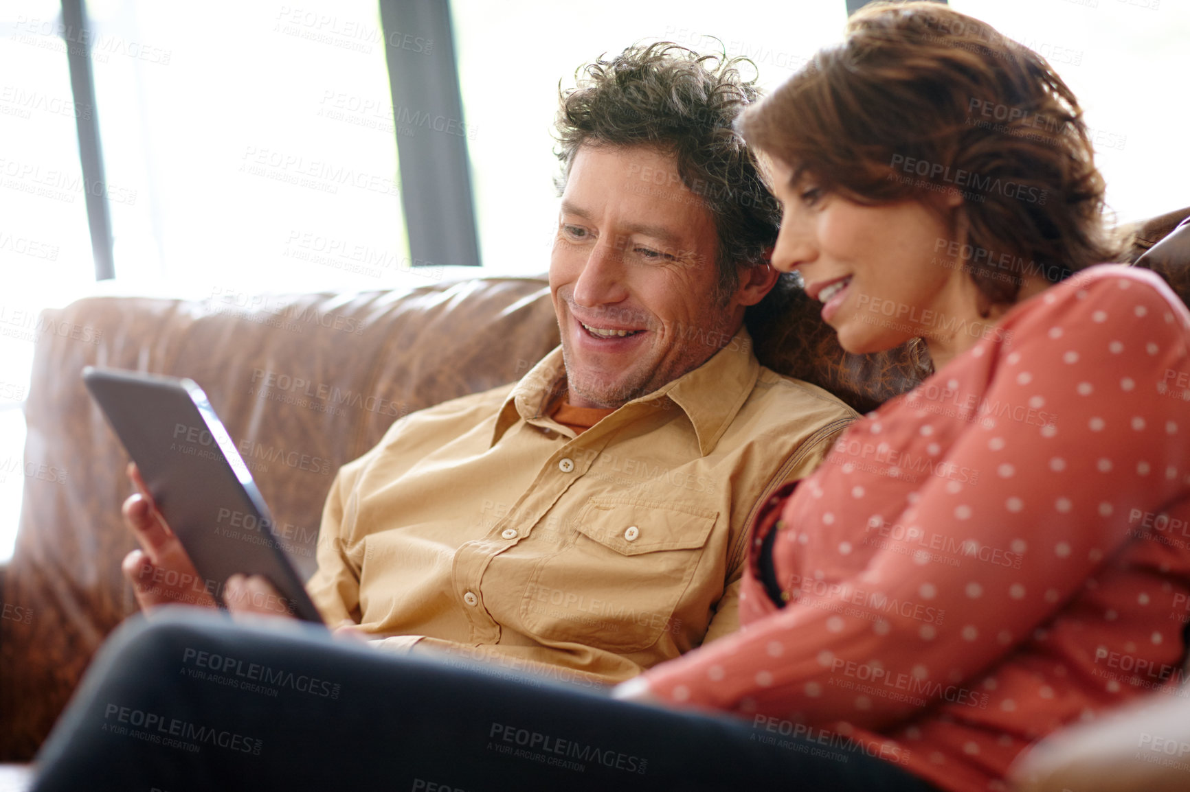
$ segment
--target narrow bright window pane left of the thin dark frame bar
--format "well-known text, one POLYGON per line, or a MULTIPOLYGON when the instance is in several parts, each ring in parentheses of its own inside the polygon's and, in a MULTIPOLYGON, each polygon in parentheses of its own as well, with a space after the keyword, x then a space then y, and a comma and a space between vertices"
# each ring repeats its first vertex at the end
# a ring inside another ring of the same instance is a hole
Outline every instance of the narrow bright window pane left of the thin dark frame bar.
POLYGON ((55 36, 55 0, 0 11, 0 561, 12 554, 26 471, 52 459, 24 458, 38 312, 92 288, 76 107, 65 46, 55 36))

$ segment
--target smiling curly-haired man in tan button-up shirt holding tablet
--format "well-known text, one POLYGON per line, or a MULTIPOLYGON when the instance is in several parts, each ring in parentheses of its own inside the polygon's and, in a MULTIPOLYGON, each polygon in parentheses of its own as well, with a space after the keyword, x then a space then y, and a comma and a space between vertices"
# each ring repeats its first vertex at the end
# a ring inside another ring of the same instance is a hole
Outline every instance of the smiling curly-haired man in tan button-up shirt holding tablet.
MULTIPOLYGON (((307 589, 383 648, 613 683, 737 629, 750 517, 853 413, 759 366, 744 328, 777 283, 778 209, 731 127, 754 87, 664 45, 584 74, 557 121, 560 347, 345 465, 307 589)), ((151 582, 184 552, 143 496, 125 515, 138 601, 175 602, 151 582)))

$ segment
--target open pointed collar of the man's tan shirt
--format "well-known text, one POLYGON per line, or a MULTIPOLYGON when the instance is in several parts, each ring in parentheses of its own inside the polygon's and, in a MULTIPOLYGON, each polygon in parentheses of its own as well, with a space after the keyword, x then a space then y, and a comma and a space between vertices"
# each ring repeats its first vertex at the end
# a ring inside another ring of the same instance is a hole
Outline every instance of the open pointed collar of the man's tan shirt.
MULTIPOLYGON (((741 325, 731 341, 701 366, 651 394, 632 400, 605 420, 614 420, 633 404, 669 400, 689 419, 699 439, 699 452, 706 457, 747 401, 759 375, 760 364, 752 353, 752 337, 741 325)), ((516 421, 545 417, 553 400, 565 388, 565 376, 562 347, 558 346, 541 358, 505 400, 491 434, 491 445, 499 442, 516 421)))

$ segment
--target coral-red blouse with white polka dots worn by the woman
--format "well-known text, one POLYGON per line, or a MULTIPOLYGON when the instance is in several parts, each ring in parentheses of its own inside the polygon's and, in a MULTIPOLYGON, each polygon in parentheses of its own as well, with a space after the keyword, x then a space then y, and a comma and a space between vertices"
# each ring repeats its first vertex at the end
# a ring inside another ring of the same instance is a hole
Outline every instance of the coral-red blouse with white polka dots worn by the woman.
POLYGON ((1188 344, 1190 313, 1132 268, 1015 306, 770 501, 744 628, 645 679, 778 748, 862 750, 956 792, 1007 788, 1015 756, 1065 724, 1177 694, 1188 344))

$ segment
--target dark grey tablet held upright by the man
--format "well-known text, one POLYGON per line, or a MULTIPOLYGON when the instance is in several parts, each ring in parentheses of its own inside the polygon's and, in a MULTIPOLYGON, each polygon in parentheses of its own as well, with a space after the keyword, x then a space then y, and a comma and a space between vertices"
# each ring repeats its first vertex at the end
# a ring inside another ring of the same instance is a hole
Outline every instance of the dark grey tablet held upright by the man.
POLYGON ((83 382, 140 470, 157 510, 220 606, 227 578, 263 574, 265 608, 322 622, 243 457, 193 379, 87 366, 83 382))

